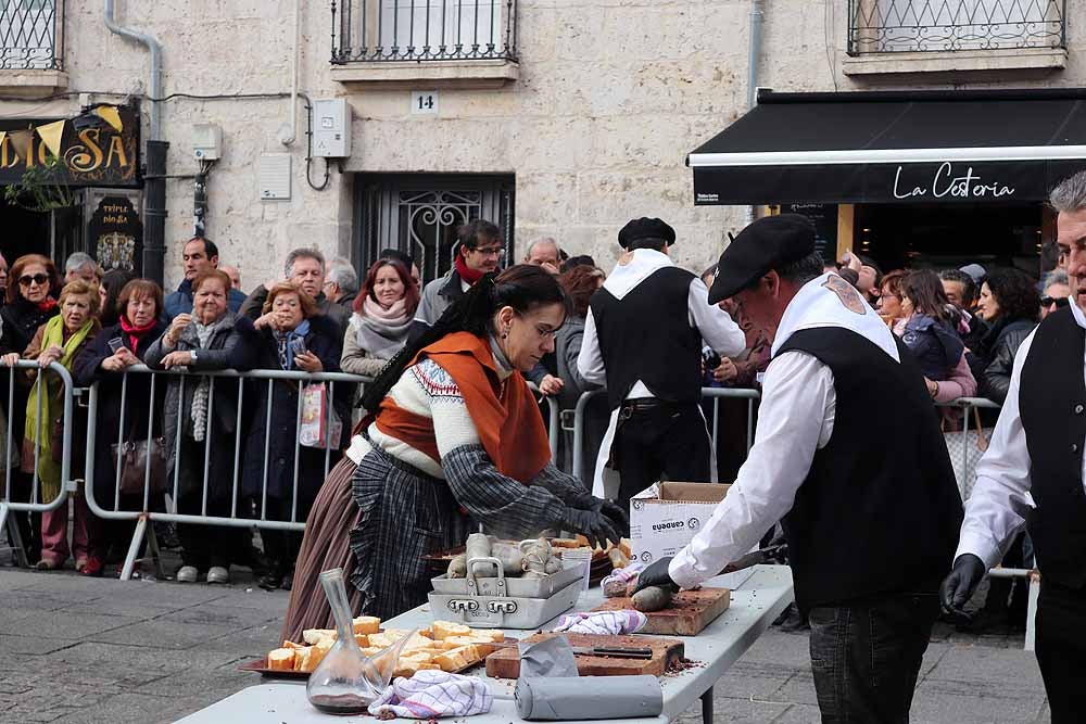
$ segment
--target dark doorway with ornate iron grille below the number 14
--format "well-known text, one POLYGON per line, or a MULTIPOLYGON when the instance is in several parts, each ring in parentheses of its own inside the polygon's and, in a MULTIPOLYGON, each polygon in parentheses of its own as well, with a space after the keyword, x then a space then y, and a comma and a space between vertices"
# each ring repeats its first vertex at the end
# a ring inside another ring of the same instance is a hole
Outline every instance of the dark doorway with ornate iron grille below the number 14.
POLYGON ((514 256, 514 180, 510 176, 449 176, 431 174, 362 174, 358 177, 358 240, 361 270, 377 261, 381 250, 397 249, 418 265, 422 281, 452 268, 457 228, 484 218, 505 236, 506 264, 514 256))

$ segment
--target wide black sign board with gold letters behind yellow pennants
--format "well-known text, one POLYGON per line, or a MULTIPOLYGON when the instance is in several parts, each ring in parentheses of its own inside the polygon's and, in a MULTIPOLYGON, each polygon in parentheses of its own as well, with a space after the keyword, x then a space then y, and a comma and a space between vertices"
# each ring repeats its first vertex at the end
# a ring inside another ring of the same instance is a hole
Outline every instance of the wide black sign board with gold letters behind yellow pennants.
MULTIPOLYGON (((117 132, 102 124, 98 128, 76 130, 65 124, 61 137, 61 163, 55 167, 58 182, 68 186, 139 186, 139 114, 129 106, 117 106, 124 130, 117 132)), ((17 131, 54 119, 0 118, 0 130, 17 131)), ((37 134, 33 136, 28 157, 20 156, 5 136, 0 142, 0 183, 17 183, 28 168, 49 161, 49 150, 37 134)))

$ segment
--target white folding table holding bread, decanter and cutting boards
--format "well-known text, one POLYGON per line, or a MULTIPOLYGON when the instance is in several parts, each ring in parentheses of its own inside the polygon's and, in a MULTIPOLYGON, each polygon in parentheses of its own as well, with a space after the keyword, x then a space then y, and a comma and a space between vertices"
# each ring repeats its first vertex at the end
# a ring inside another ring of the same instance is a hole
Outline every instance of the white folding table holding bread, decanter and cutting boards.
MULTIPOLYGON (((723 579, 724 576, 722 576, 723 579)), ((707 581, 717 585, 720 580, 707 581)), ((679 717, 698 699, 705 724, 712 722, 712 686, 724 672, 758 639, 781 611, 792 601, 792 570, 786 566, 756 566, 747 571, 732 573, 727 583, 733 586, 732 602, 720 618, 697 636, 682 636, 685 656, 697 665, 660 678, 664 688, 664 713, 653 719, 617 720, 629 724, 666 724, 679 717), (742 583, 736 585, 736 576, 742 583)), ((603 601, 603 592, 596 587, 581 595, 574 611, 589 611, 603 601)), ((432 614, 429 606, 420 606, 384 622, 394 628, 425 628, 441 614, 432 614)), ((554 621, 541 626, 554 625, 554 621)), ((530 635, 530 631, 506 631, 514 638, 530 635)), ((482 666, 468 672, 487 678, 482 666)), ((510 724, 521 722, 513 701, 516 682, 487 678, 494 693, 494 707, 488 714, 472 716, 473 724, 510 724)), ((371 716, 331 716, 321 714, 305 699, 304 682, 275 682, 242 689, 237 694, 202 709, 182 720, 182 724, 213 724, 218 722, 252 722, 253 724, 317 724, 319 722, 345 724, 372 724, 371 716)))

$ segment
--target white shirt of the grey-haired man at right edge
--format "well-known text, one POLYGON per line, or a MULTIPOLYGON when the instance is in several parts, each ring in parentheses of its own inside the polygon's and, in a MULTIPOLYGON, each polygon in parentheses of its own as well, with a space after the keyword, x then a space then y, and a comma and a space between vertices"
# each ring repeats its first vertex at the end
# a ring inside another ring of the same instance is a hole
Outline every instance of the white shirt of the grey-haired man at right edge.
MULTIPOLYGON (((1071 313, 1079 327, 1086 328, 1086 315, 1072 301, 1071 313)), ((1030 450, 1025 445, 1025 429, 1019 411, 1019 386, 1036 330, 1022 342, 1014 355, 1011 384, 992 441, 984 457, 976 463, 976 485, 965 504, 965 520, 955 560, 962 554, 973 554, 988 568, 997 564, 1014 536, 1025 528, 1033 511, 1030 488, 1030 450)), ((1086 350, 1083 368, 1086 374, 1086 350)), ((1086 459, 1083 460, 1086 481, 1086 459)), ((1084 482, 1086 484, 1086 482, 1084 482)))

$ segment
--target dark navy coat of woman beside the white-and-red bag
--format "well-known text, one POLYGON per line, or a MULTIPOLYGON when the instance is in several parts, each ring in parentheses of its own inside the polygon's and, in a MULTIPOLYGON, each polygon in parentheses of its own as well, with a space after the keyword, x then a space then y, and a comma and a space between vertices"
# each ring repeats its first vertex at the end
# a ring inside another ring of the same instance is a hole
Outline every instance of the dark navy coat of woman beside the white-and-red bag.
MULTIPOLYGON (((240 329, 240 327, 239 327, 240 329)), ((279 366, 278 346, 272 330, 257 330, 247 341, 251 345, 252 369, 282 369, 279 366)), ((333 320, 323 315, 310 318, 310 332, 305 335, 306 348, 315 354, 326 372, 338 372, 339 359, 343 351, 342 335, 333 320)), ((350 428, 350 398, 343 395, 344 385, 336 386, 336 411, 343 421, 344 430, 350 428)), ((242 491, 248 496, 260 499, 264 491, 264 446, 268 432, 267 411, 272 405, 270 435, 267 440, 267 496, 290 500, 294 481, 294 447, 298 441, 298 395, 299 385, 294 381, 275 381, 270 399, 266 380, 251 380, 245 389, 245 401, 251 427, 245 440, 244 462, 242 463, 242 491)), ((320 490, 325 479, 325 450, 298 445, 298 520, 304 521, 308 507, 320 490)), ((338 450, 332 450, 329 465, 339 460, 338 450)), ((258 507, 257 507, 258 509, 258 507)))

